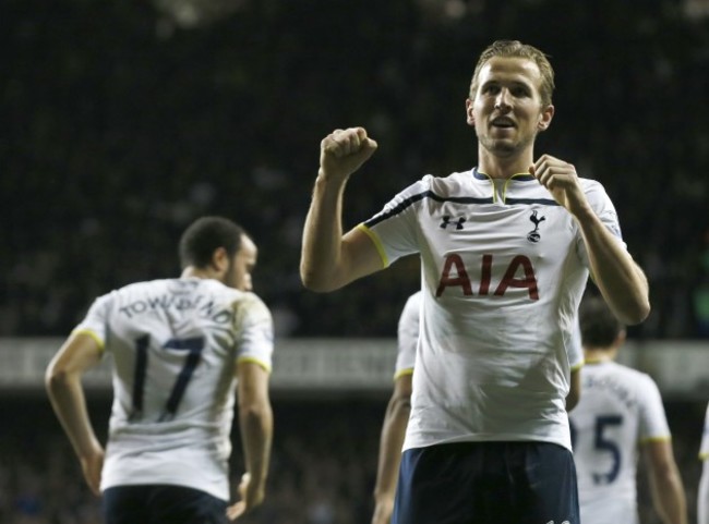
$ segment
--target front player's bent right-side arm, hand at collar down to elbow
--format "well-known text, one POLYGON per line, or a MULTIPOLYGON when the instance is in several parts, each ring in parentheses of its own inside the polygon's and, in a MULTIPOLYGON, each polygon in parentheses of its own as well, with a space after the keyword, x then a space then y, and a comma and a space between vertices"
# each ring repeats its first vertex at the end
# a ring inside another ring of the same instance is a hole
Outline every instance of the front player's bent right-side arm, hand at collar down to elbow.
POLYGON ((543 155, 530 167, 529 172, 578 222, 593 281, 615 316, 626 325, 645 320, 650 314, 648 280, 633 257, 593 212, 574 166, 543 155))

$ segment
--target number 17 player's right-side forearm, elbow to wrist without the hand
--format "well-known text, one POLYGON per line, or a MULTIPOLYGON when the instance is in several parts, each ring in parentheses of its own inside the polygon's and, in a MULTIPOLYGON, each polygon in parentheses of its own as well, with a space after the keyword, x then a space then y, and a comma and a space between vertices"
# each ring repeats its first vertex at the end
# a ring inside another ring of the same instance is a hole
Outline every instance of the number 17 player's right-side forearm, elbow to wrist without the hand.
POLYGON ((265 487, 273 440, 273 411, 268 403, 241 407, 239 423, 243 458, 251 482, 265 487))

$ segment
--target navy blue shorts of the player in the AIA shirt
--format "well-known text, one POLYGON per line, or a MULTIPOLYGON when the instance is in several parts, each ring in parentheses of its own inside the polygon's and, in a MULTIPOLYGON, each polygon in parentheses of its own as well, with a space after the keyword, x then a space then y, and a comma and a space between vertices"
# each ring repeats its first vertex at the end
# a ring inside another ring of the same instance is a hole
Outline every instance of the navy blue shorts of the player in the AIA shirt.
POLYGON ((392 524, 579 524, 573 454, 546 442, 407 450, 392 524))

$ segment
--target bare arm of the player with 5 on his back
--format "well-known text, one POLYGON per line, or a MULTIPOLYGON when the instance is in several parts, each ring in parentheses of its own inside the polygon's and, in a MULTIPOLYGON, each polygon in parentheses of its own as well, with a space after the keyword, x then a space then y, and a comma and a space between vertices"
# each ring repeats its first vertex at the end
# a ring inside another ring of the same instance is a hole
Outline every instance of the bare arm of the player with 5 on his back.
POLYGON ((652 501, 663 524, 687 524, 687 504, 674 460, 671 440, 651 440, 642 446, 652 501))

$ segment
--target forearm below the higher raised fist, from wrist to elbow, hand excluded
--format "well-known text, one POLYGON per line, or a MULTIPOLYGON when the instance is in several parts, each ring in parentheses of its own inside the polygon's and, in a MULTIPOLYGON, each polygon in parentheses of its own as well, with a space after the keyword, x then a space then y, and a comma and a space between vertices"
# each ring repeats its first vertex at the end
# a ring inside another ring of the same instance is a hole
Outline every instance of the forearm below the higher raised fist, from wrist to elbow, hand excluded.
POLYGON ((332 291, 341 285, 336 269, 341 255, 343 195, 345 182, 319 174, 303 228, 300 276, 313 291, 332 291))

